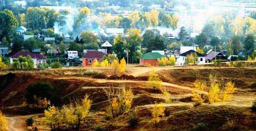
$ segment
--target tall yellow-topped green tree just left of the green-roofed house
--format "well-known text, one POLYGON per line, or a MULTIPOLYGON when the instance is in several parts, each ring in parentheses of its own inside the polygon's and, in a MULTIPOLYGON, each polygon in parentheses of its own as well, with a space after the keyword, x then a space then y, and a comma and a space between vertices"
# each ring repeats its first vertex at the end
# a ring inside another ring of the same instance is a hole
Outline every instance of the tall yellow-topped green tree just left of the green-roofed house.
POLYGON ((140 30, 132 28, 127 33, 127 44, 130 62, 139 62, 141 56, 141 41, 143 38, 140 36, 140 30))

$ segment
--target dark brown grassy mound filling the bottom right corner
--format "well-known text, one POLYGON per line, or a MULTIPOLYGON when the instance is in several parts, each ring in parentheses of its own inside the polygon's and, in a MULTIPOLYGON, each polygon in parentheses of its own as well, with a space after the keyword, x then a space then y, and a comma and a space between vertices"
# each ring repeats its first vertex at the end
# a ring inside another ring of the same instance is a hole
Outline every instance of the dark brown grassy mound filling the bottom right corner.
POLYGON ((174 130, 173 127, 176 130, 191 130, 197 123, 205 123, 209 129, 221 130, 228 120, 232 120, 233 124, 236 124, 234 126, 239 126, 241 130, 255 130, 255 117, 256 113, 253 113, 250 108, 202 105, 186 111, 171 113, 167 123, 162 123, 162 125, 168 124, 171 130, 174 130), (247 128, 244 128, 245 126, 247 128))

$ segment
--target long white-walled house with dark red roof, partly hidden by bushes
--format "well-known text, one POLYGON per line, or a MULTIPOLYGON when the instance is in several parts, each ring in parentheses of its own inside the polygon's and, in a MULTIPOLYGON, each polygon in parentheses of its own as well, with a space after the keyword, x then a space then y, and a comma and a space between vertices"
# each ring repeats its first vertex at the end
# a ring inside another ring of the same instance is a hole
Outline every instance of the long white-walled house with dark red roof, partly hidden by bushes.
POLYGON ((33 53, 27 52, 27 51, 19 51, 10 57, 11 64, 13 62, 13 59, 17 59, 19 56, 23 56, 23 57, 31 56, 31 58, 34 62, 34 68, 37 68, 38 64, 40 64, 40 63, 43 63, 43 62, 47 63, 47 59, 41 54, 33 54, 33 53))

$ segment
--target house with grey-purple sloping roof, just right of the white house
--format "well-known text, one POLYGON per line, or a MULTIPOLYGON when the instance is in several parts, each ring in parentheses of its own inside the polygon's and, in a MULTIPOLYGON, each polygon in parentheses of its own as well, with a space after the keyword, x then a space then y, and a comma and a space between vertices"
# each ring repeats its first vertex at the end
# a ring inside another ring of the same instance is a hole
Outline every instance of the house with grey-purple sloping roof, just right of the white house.
POLYGON ((218 61, 218 59, 221 60, 221 62, 225 62, 228 61, 228 59, 226 58, 226 56, 224 56, 222 53, 220 52, 215 52, 215 51, 211 51, 205 58, 205 62, 206 63, 211 63, 212 61, 218 61))

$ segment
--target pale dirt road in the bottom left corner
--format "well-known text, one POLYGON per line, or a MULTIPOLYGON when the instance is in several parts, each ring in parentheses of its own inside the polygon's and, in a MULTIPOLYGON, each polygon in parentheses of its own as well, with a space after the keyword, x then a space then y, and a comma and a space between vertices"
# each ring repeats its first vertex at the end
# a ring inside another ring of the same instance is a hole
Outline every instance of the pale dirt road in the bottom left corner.
POLYGON ((8 121, 7 131, 27 131, 28 129, 25 120, 32 116, 33 115, 6 117, 6 120, 8 121))

